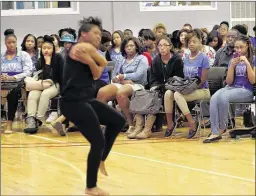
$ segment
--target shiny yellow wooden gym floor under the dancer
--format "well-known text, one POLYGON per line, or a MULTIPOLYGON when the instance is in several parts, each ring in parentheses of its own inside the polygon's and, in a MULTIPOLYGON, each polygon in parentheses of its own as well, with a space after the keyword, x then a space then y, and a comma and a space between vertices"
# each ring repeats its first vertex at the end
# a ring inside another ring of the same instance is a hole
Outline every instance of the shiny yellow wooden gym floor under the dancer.
MULTIPOLYGON (((178 132, 141 141, 121 133, 98 186, 111 195, 255 195, 255 140, 203 144, 178 132)), ((88 150, 79 132, 1 134, 1 194, 83 195, 88 150)))

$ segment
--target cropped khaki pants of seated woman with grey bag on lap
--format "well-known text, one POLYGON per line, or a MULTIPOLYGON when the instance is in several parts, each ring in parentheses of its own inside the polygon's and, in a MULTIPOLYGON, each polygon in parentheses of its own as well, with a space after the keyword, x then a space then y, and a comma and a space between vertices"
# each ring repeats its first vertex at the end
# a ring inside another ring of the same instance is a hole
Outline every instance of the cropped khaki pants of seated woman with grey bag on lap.
POLYGON ((193 93, 188 95, 182 95, 178 92, 173 93, 170 90, 167 90, 164 94, 164 107, 166 113, 173 112, 173 101, 175 100, 183 115, 190 113, 187 102, 210 99, 209 89, 197 89, 193 93))

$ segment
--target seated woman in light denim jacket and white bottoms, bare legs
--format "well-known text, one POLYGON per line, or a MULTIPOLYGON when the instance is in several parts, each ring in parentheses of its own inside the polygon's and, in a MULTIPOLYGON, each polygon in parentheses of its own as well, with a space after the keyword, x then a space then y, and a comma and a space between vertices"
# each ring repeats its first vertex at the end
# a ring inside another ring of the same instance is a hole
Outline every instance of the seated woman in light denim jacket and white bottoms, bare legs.
POLYGON ((107 103, 117 99, 118 105, 126 116, 130 128, 134 128, 133 118, 129 111, 129 97, 134 91, 144 89, 147 84, 148 60, 141 55, 139 40, 135 37, 125 39, 121 44, 124 57, 114 68, 112 83, 101 88, 97 99, 107 103))

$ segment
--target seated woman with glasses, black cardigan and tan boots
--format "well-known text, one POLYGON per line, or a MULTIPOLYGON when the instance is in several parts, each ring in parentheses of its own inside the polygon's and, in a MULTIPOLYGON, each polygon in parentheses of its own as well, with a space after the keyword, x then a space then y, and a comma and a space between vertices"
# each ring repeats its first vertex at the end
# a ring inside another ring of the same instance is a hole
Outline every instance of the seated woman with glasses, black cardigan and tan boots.
MULTIPOLYGON (((173 52, 173 45, 168 37, 162 37, 157 41, 159 55, 153 60, 150 69, 150 90, 154 91, 159 85, 166 83, 168 78, 173 76, 184 77, 183 61, 173 52)), ((127 137, 129 139, 146 139, 150 137, 151 130, 156 120, 153 114, 145 117, 135 114, 135 128, 130 129, 127 137)))

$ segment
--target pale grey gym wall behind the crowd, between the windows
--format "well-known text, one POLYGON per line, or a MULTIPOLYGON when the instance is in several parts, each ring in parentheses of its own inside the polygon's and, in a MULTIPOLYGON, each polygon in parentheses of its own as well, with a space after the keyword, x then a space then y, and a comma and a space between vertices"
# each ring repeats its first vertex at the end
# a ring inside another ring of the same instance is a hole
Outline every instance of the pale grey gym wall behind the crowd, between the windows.
MULTIPOLYGON (((130 28, 135 35, 141 28, 153 28, 157 22, 163 22, 171 33, 184 23, 211 29, 223 20, 230 20, 229 2, 218 2, 215 11, 169 12, 140 12, 139 2, 79 2, 79 5, 80 14, 77 15, 1 17, 1 35, 5 29, 13 28, 21 43, 28 33, 39 36, 57 33, 65 27, 78 29, 78 20, 86 16, 100 17, 103 27, 109 31, 130 28)), ((1 36, 1 48, 4 47, 4 36, 1 36)))

